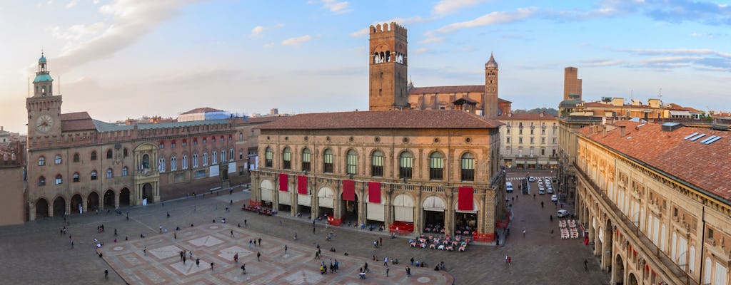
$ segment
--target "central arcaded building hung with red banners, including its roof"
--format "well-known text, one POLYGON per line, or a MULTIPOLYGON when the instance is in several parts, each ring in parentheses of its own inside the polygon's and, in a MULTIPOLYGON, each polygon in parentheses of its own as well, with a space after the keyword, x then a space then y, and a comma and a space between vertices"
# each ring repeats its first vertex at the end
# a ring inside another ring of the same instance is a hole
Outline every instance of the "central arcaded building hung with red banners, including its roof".
POLYGON ((505 218, 499 125, 463 111, 284 117, 261 127, 251 205, 492 241, 505 218))

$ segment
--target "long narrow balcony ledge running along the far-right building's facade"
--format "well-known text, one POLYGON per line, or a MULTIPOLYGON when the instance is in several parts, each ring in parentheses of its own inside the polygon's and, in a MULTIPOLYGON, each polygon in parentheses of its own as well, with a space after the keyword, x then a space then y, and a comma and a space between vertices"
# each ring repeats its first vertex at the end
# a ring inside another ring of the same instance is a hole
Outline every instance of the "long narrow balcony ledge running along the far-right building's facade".
POLYGON ((664 251, 656 246, 656 244, 653 243, 649 238, 647 238, 646 235, 640 233, 640 228, 637 227, 634 222, 632 222, 632 219, 629 219, 629 217, 627 217, 619 208, 617 208, 615 203, 605 194, 605 192, 601 188, 599 188, 599 185, 594 184, 594 181, 591 181, 591 179, 589 179, 588 175, 584 173, 583 169, 580 168, 577 163, 574 162, 573 166, 577 176, 579 176, 581 180, 585 181, 586 184, 589 184, 589 186, 591 187, 591 189, 588 189, 587 191, 593 192, 595 197, 599 198, 597 200, 599 201, 599 203, 602 204, 605 209, 608 210, 607 215, 613 219, 613 223, 616 225, 616 227, 621 228, 621 232, 626 233, 624 237, 627 240, 631 240, 634 245, 638 245, 632 246, 632 248, 637 249, 637 251, 645 251, 644 255, 646 257, 646 262, 654 264, 657 270, 662 272, 665 276, 672 278, 671 280, 665 281, 667 281, 669 284, 698 284, 697 281, 691 278, 691 276, 689 276, 685 271, 683 271, 683 269, 681 269, 675 262, 673 262, 673 259, 667 257, 664 251))

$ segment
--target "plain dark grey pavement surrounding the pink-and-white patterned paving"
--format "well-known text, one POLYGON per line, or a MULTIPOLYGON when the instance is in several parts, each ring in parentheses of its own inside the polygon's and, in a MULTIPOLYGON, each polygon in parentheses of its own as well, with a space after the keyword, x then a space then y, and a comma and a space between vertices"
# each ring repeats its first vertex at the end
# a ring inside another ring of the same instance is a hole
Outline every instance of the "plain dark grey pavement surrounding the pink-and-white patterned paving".
MULTIPOLYGON (((289 241, 289 246, 293 246, 296 251, 306 252, 306 249, 312 251, 319 244, 326 256, 329 253, 327 249, 331 247, 337 250, 337 255, 344 257, 342 254, 348 252, 349 258, 354 260, 370 260, 375 255, 380 262, 374 263, 379 264, 381 268, 383 267, 383 257, 398 259, 401 264, 392 267, 391 273, 401 272, 402 270, 395 270, 395 268, 403 268, 411 257, 423 260, 431 268, 436 263, 443 261, 447 267, 447 273, 453 277, 454 284, 609 283, 608 273, 599 270, 597 259, 591 255, 591 246, 584 246, 583 241, 580 240, 558 238, 556 209, 550 203, 550 195, 537 195, 535 199, 532 195, 520 195, 518 191, 509 195, 517 200, 512 202, 514 217, 510 225, 511 233, 507 236, 507 243, 497 247, 473 245, 469 246, 465 252, 412 249, 408 246, 406 237, 391 239, 385 233, 356 230, 345 226, 325 229, 325 225, 319 222, 315 227, 316 233, 313 234, 312 223, 306 218, 262 216, 249 211, 240 211, 240 206, 246 203, 249 195, 249 192, 242 192, 238 189, 233 195, 221 192, 219 195, 208 194, 207 197, 199 195, 197 198, 168 201, 164 206, 156 204, 122 208, 123 214, 115 214, 113 211, 102 214, 76 214, 69 217, 66 235, 59 233, 64 226, 64 220, 61 218, 0 227, 0 252, 2 253, 0 262, 6 265, 0 267, 0 276, 2 276, 0 283, 100 284, 103 282, 104 284, 124 284, 125 281, 117 272, 126 276, 128 273, 124 272, 125 266, 115 264, 113 259, 119 258, 115 257, 116 254, 107 253, 107 251, 113 250, 115 246, 130 244, 137 248, 136 252, 139 254, 139 247, 146 242, 155 238, 169 240, 175 227, 181 227, 182 232, 190 231, 190 233, 194 233, 193 235, 199 235, 200 233, 197 231, 204 231, 205 226, 213 225, 213 219, 220 221, 221 218, 226 218, 229 226, 241 225, 241 232, 238 232, 237 227, 235 234, 253 236, 256 235, 254 233, 260 233, 280 238, 282 243, 289 241), (226 211, 226 206, 229 206, 231 200, 234 206, 230 208, 230 211, 226 211), (544 208, 541 208, 540 201, 544 201, 544 208), (129 211, 129 220, 125 219, 124 212, 126 211, 129 211), (167 213, 170 214, 169 218, 167 213), (550 214, 553 214, 553 222, 549 221, 550 214), (97 233, 96 227, 99 225, 105 226, 105 233, 97 233), (159 227, 161 226, 167 229, 168 233, 160 234, 159 227), (523 228, 526 229, 525 237, 520 233, 523 228), (113 242, 115 229, 118 232, 117 244, 113 242), (550 230, 554 230, 554 235, 550 234, 550 230), (336 237, 333 238, 333 241, 326 241, 326 233, 330 232, 335 233, 336 237), (140 234, 143 233, 147 238, 140 238, 140 234), (293 241, 295 233, 298 235, 297 241, 293 241), (69 235, 72 235, 75 241, 74 249, 71 249, 69 244, 69 235), (129 239, 129 243, 124 243, 126 237, 129 239), (93 245, 94 238, 105 243, 105 246, 102 247, 105 258, 99 258, 96 254, 93 245), (376 238, 383 238, 383 246, 374 248, 373 241, 376 238), (510 265, 504 262, 506 254, 512 257, 510 265), (111 263, 107 263, 105 259, 110 259, 111 263), (589 261, 588 270, 583 268, 584 259, 589 261), (110 269, 109 280, 104 279, 105 268, 110 269)), ((228 231, 224 231, 222 234, 225 233, 228 231)), ((221 233, 216 233, 216 235, 221 235, 221 233)), ((265 245, 268 239, 271 238, 262 236, 265 245)), ((243 248, 248 249, 248 244, 243 248)), ((129 250, 135 251, 132 248, 129 250)), ((196 252, 197 250, 194 250, 194 254, 196 252)), ((148 256, 150 254, 148 252, 148 256)), ((311 255, 314 255, 314 251, 311 255)), ((338 258, 338 260, 340 259, 338 258)), ((255 266, 249 269, 251 263, 251 261, 246 262, 247 271, 256 271, 255 266)), ((216 262, 216 264, 218 263, 216 262)), ((300 264, 304 267, 310 266, 301 262, 300 264)), ((425 269, 431 270, 431 268, 425 269)), ((210 270, 210 265, 207 269, 210 270)), ((174 272, 172 270, 175 269, 168 266, 166 270, 174 272)), ((353 272, 357 272, 357 268, 349 268, 349 270, 356 270, 349 271, 349 276, 353 276, 353 272)), ((231 270, 231 276, 235 272, 237 271, 231 270)), ((238 273, 240 273, 240 269, 238 273)), ((376 275, 379 274, 376 273, 376 275)), ((217 279, 218 281, 206 279, 201 282, 202 284, 216 282, 225 284, 228 281, 224 281, 226 280, 224 278, 221 277, 217 279)), ((236 282, 232 279, 229 280, 232 283, 236 282)), ((284 280, 286 279, 271 282, 273 284, 277 284, 276 282, 279 281, 284 284, 296 284, 296 281, 284 280)), ((417 283, 417 280, 412 278, 411 281, 417 283)), ((147 282, 144 281, 144 283, 147 282)))

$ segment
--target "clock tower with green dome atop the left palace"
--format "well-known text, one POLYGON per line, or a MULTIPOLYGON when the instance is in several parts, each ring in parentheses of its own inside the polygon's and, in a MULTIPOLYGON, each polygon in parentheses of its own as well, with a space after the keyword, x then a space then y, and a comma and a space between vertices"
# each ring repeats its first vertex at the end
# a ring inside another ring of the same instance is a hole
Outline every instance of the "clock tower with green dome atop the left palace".
POLYGON ((46 63, 41 53, 33 80, 33 96, 26 98, 29 138, 61 134, 61 95, 53 95, 53 78, 46 63))

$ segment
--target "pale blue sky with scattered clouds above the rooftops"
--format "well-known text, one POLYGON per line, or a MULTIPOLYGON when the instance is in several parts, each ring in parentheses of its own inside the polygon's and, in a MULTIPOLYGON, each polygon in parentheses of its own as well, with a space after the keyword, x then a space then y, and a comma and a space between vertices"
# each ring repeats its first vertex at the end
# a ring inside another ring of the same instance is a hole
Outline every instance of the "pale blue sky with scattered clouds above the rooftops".
POLYGON ((417 87, 484 84, 556 108, 564 68, 602 96, 731 110, 731 3, 687 0, 0 1, 0 125, 26 133, 41 51, 61 112, 96 120, 368 109, 368 31, 408 30, 417 87), (662 96, 662 97, 660 97, 662 96))

